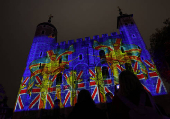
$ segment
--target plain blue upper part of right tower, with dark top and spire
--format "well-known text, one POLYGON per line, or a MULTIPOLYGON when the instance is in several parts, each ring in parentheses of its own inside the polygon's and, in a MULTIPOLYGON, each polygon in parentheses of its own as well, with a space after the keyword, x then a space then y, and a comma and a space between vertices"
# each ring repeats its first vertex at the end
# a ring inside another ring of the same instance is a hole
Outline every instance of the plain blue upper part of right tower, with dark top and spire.
MULTIPOLYGON (((123 14, 119 9, 119 15, 117 17, 117 29, 123 35, 123 43, 135 44, 142 49, 141 55, 145 58, 150 58, 149 52, 146 50, 146 45, 143 38, 138 30, 138 27, 133 19, 133 14, 123 14)), ((143 59, 143 57, 141 57, 143 59)))

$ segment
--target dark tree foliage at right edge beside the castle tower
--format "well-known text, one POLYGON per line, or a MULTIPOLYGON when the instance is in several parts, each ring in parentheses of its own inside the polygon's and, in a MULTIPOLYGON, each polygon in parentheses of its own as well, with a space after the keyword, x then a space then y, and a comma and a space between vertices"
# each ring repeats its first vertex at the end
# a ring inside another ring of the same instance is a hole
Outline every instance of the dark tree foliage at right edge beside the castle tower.
POLYGON ((163 79, 170 83, 170 18, 150 37, 150 54, 163 79))

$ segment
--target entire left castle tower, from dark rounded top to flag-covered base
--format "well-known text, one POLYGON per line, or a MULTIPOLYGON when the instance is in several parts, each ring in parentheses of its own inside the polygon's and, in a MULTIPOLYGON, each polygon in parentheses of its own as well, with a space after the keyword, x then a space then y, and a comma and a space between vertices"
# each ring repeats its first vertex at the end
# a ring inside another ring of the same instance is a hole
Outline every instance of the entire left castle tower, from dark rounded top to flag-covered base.
POLYGON ((20 84, 15 111, 27 110, 31 101, 31 96, 27 93, 27 87, 31 76, 29 66, 32 61, 45 57, 47 51, 51 50, 57 43, 57 29, 51 24, 49 16, 48 22, 37 25, 33 43, 28 55, 26 68, 20 84))

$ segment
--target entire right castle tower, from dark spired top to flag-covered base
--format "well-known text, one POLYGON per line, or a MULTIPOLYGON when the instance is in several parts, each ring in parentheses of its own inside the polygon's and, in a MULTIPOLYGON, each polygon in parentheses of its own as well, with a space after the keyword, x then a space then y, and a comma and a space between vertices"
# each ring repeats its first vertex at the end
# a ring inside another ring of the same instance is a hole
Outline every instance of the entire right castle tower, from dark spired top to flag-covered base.
MULTIPOLYGON (((133 45, 137 46, 137 48, 141 52, 141 54, 138 55, 140 57, 140 62, 145 64, 145 66, 142 67, 143 69, 141 69, 141 71, 144 71, 144 69, 147 69, 147 72, 148 72, 147 75, 145 75, 147 77, 147 80, 140 80, 140 81, 145 86, 148 87, 152 95, 166 94, 166 88, 159 76, 157 68, 148 50, 146 49, 144 40, 133 19, 133 14, 123 14, 123 12, 121 11, 119 7, 118 9, 119 9, 120 16, 117 17, 117 29, 119 29, 120 34, 122 35, 122 43, 130 44, 131 47, 133 47, 133 45)), ((138 72, 137 76, 139 75, 140 75, 140 72, 138 72)))

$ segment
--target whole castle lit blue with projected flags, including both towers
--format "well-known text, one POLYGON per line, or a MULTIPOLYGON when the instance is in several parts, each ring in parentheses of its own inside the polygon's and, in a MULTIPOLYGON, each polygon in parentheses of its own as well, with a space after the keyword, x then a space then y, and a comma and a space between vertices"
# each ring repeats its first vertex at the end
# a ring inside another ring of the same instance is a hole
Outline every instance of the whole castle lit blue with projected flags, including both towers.
MULTIPOLYGON (((120 9, 119 9, 120 10, 120 9)), ((93 39, 57 43, 57 29, 48 22, 37 26, 21 80, 15 112, 74 106, 81 89, 87 89, 95 103, 114 96, 118 75, 130 70, 152 95, 166 94, 165 86, 133 19, 133 14, 117 17, 116 32, 93 39)))

